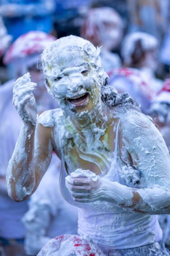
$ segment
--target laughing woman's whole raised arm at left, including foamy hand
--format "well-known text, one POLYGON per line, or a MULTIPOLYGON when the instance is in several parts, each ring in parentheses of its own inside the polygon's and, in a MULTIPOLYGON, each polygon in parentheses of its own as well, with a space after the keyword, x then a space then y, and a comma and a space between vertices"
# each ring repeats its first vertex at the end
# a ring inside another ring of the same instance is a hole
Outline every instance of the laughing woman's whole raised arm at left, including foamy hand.
POLYGON ((13 103, 22 119, 22 127, 7 168, 9 197, 28 199, 38 187, 52 158, 52 129, 36 126, 36 103, 29 74, 14 83, 13 103))

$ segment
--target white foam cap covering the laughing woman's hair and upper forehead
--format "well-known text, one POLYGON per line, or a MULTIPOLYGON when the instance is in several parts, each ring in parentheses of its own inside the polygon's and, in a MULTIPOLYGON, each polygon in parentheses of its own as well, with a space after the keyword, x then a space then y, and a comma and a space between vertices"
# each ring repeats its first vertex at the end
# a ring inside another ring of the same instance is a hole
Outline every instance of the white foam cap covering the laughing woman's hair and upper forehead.
POLYGON ((47 73, 52 67, 61 70, 85 62, 100 67, 99 53, 100 49, 96 49, 90 41, 73 35, 62 37, 44 49, 41 56, 42 68, 47 73))

